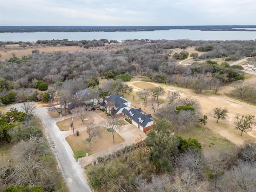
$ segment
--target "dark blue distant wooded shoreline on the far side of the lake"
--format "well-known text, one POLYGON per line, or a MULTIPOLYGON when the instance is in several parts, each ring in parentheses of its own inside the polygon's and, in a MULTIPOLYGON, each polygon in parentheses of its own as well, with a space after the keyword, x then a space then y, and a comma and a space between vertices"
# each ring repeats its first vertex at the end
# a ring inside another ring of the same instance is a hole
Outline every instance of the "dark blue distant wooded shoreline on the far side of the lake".
POLYGON ((256 31, 256 25, 215 26, 0 26, 0 33, 23 32, 138 32, 156 30, 256 31), (235 29, 236 28, 236 29, 235 29), (241 28, 241 29, 239 29, 241 28), (244 29, 248 28, 248 29, 244 29))

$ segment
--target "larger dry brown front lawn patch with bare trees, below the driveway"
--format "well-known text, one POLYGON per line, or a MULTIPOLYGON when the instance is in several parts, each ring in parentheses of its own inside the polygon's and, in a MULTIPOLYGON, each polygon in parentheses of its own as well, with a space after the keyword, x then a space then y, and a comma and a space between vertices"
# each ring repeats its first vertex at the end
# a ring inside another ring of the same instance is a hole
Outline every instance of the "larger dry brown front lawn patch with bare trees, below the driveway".
POLYGON ((101 130, 102 137, 93 138, 91 141, 91 151, 89 151, 89 143, 86 141, 86 138, 88 138, 86 130, 81 131, 79 136, 70 135, 66 137, 66 140, 72 148, 75 156, 76 154, 78 154, 78 156, 85 156, 86 153, 91 155, 124 142, 124 139, 116 132, 115 143, 113 143, 112 133, 108 132, 105 127, 102 127, 101 130))

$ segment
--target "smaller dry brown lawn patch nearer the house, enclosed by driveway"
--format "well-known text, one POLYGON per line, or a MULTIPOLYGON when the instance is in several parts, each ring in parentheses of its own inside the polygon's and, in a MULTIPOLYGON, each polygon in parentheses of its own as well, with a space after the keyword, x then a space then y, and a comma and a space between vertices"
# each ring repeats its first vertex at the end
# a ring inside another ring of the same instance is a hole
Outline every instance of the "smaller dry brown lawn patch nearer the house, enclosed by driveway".
MULTIPOLYGON (((93 122, 94 122, 94 118, 90 115, 88 115, 88 120, 84 120, 84 124, 82 124, 82 120, 79 117, 73 118, 74 128, 80 128, 80 127, 86 126, 86 124, 88 123, 93 123, 93 122)), ((68 119, 65 119, 64 121, 57 122, 56 124, 61 131, 68 131, 69 128, 72 127, 71 117, 68 119)))

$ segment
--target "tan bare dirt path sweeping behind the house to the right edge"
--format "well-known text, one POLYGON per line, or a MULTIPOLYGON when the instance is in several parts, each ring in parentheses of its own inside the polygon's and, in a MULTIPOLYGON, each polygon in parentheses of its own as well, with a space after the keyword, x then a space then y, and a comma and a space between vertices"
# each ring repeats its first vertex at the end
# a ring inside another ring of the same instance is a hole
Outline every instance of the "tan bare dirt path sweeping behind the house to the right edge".
MULTIPOLYGON (((256 82, 256 78, 253 77, 250 79, 251 82, 256 82)), ((134 87, 134 92, 142 90, 142 88, 136 87, 133 84, 136 82, 128 82, 129 86, 134 87)), ((147 82, 149 83, 149 82, 147 82)), ((156 83, 152 83, 155 86, 158 86, 156 83)), ((200 102, 200 106, 202 108, 203 114, 209 114, 214 107, 222 107, 228 109, 228 119, 226 121, 219 120, 216 123, 216 119, 211 118, 208 116, 208 122, 206 127, 217 134, 225 137, 226 139, 230 140, 234 144, 240 145, 245 140, 251 139, 256 141, 256 126, 253 127, 252 131, 248 133, 243 133, 243 136, 240 136, 240 131, 234 129, 234 116, 238 113, 240 114, 256 114, 256 106, 246 104, 244 102, 240 102, 225 96, 223 93, 226 90, 231 90, 232 86, 224 87, 224 91, 222 93, 215 95, 215 94, 208 94, 206 91, 202 94, 195 94, 193 90, 180 88, 176 86, 164 86, 166 90, 179 90, 181 91, 184 96, 193 96, 197 98, 200 102)))

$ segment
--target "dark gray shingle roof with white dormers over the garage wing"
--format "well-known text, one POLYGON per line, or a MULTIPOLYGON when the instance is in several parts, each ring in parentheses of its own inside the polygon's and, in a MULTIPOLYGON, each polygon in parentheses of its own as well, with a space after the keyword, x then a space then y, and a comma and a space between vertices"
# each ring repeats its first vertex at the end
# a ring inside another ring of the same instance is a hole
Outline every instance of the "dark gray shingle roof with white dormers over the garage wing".
MULTIPOLYGON (((131 108, 130 110, 123 109, 123 113, 126 114, 126 116, 130 117, 133 121, 138 123, 140 126, 144 127, 148 124, 148 122, 152 122, 153 120, 150 119, 150 114, 144 115, 141 113, 141 109, 134 109, 131 108), (134 114, 133 116, 130 115, 130 112, 134 114), (139 118, 142 120, 142 122, 139 121, 139 118)), ((152 116, 151 116, 152 117, 152 116)))

